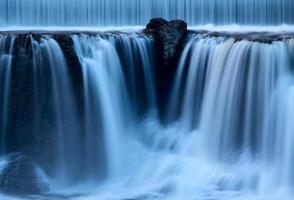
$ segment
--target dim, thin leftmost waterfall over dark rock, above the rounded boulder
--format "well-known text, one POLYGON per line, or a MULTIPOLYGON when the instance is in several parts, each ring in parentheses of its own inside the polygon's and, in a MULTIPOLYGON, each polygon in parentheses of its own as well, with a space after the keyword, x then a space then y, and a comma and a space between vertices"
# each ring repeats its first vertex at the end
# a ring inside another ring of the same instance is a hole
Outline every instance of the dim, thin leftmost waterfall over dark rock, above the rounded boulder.
POLYGON ((59 45, 47 36, 5 35, 1 46, 1 155, 24 151, 42 164, 51 158, 54 176, 73 178, 78 163, 69 152, 79 155, 78 120, 59 45))

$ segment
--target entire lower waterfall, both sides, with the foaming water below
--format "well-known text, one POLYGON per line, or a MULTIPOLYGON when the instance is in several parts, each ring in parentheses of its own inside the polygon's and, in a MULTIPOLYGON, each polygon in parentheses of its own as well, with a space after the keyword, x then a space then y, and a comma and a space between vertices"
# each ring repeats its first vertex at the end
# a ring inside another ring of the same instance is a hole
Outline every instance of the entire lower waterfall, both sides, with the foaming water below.
POLYGON ((81 200, 294 195, 293 39, 192 36, 161 115, 152 39, 71 39, 80 71, 52 36, 0 38, 1 155, 33 156, 50 177, 50 193, 81 200))

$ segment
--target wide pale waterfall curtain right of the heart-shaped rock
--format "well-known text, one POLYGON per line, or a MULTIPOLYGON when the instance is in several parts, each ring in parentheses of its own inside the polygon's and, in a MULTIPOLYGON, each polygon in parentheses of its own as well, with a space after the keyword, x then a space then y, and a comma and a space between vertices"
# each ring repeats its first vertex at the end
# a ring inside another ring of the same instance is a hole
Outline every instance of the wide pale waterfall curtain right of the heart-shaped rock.
MULTIPOLYGON (((188 133, 180 152, 220 170, 214 174, 219 179, 206 177, 209 184, 265 199, 275 192, 291 194, 292 56, 293 39, 265 44, 195 36, 187 45, 169 114, 188 133)), ((203 163, 186 175, 197 177, 203 163)), ((198 181, 190 183, 192 188, 198 181)), ((180 192, 185 195, 189 188, 185 183, 180 192)))

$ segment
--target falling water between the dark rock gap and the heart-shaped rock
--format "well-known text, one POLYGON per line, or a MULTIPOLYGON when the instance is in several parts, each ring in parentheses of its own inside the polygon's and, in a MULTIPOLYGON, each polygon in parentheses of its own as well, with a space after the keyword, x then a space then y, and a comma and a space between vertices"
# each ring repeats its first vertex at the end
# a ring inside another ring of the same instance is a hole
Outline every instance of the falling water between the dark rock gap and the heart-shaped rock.
POLYGON ((97 162, 101 155, 98 152, 104 152, 106 178, 121 177, 128 168, 125 146, 129 143, 130 123, 141 113, 140 104, 144 104, 144 109, 155 106, 153 43, 148 38, 123 34, 106 38, 74 35, 73 41, 83 68, 87 129, 85 165, 99 170, 97 162), (125 55, 119 55, 117 48, 122 48, 121 53, 125 55), (136 86, 142 81, 138 80, 140 77, 144 79, 143 87, 136 86), (147 99, 139 99, 141 95, 147 99), (101 139, 103 141, 99 141, 101 139), (99 149, 101 146, 103 150, 99 149))

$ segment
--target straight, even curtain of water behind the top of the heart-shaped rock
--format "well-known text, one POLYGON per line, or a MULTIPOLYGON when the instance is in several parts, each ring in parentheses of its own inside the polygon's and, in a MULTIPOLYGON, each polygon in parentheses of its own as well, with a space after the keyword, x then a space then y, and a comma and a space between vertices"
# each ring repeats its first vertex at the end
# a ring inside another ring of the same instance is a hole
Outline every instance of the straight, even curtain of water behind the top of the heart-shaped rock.
POLYGON ((151 17, 189 25, 294 22, 292 0, 1 0, 0 26, 129 26, 151 17))

